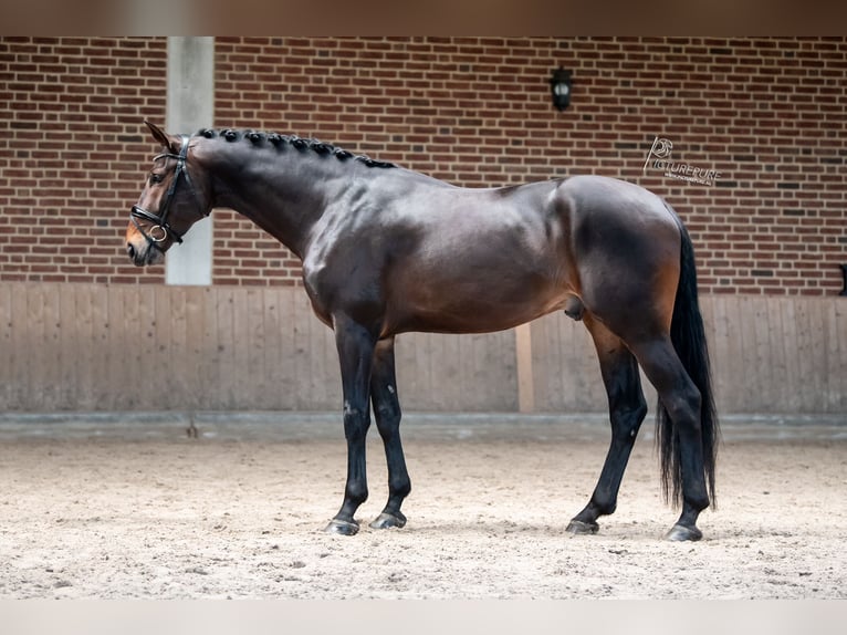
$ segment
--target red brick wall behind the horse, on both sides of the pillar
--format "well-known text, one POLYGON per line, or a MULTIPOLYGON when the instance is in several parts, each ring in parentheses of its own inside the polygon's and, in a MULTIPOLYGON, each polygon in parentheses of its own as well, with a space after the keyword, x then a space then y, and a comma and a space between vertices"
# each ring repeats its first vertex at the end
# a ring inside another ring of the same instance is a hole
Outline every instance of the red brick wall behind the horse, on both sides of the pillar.
MULTIPOLYGON (((219 38, 216 81, 216 125, 315 136, 459 185, 639 183, 688 223, 704 292, 841 288, 844 38, 219 38), (560 64, 574 76, 564 113, 546 83, 560 64), (657 135, 723 178, 642 175, 657 135)), ((161 281, 124 261, 119 238, 155 149, 138 124, 164 121, 164 86, 163 39, 0 39, 0 279, 161 281)), ((215 216, 216 283, 299 283, 285 249, 215 216)))

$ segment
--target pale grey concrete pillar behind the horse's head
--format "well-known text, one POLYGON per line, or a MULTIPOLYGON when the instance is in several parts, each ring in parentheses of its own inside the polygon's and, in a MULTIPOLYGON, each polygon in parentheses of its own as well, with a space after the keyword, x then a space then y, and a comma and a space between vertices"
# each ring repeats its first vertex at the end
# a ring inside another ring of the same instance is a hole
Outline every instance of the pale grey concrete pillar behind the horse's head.
MULTIPOLYGON (((215 38, 168 38, 168 101, 165 128, 194 134, 215 122, 215 38)), ((190 167, 190 163, 189 163, 190 167)), ((191 227, 185 242, 168 250, 168 284, 211 284, 212 219, 191 227)))

